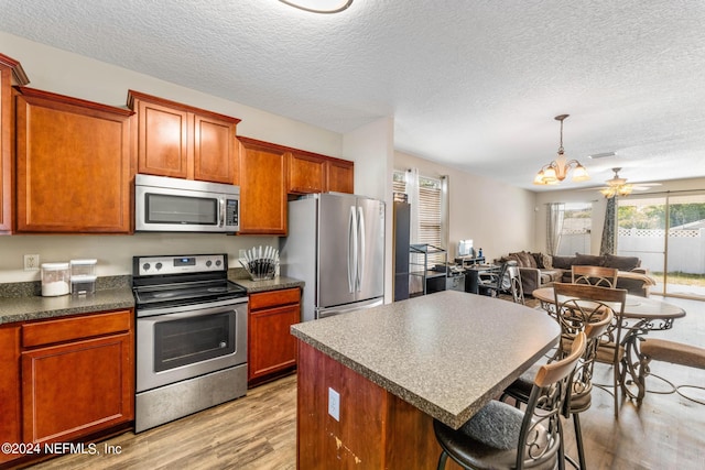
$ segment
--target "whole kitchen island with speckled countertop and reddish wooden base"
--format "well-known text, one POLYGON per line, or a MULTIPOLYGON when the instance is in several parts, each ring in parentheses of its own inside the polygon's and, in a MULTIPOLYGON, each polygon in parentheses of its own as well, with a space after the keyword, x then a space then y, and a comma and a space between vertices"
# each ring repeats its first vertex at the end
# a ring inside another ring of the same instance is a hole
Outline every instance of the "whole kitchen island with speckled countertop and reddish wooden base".
POLYGON ((292 335, 297 468, 435 468, 433 419, 458 428, 560 328, 540 310, 445 291, 294 325, 292 335))

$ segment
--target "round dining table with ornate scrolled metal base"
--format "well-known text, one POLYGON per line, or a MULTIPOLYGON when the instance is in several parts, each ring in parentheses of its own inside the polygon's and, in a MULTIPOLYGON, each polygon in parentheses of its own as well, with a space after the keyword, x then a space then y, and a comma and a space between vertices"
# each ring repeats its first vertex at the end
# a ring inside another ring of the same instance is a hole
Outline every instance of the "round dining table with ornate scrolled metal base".
MULTIPOLYGON (((532 296, 541 303, 541 307, 555 316, 555 293, 553 287, 541 287, 532 292, 532 296)), ((685 317, 685 310, 677 305, 669 304, 653 297, 642 297, 627 294, 625 310, 621 316, 622 336, 618 338, 623 347, 622 360, 617 367, 621 368, 620 376, 629 374, 629 381, 621 380, 621 389, 626 396, 641 403, 646 393, 644 375, 640 374, 642 354, 640 343, 651 331, 662 331, 673 328, 673 323, 685 317), (633 390, 636 387, 636 391, 633 390)), ((615 317, 614 321, 619 321, 615 317)))

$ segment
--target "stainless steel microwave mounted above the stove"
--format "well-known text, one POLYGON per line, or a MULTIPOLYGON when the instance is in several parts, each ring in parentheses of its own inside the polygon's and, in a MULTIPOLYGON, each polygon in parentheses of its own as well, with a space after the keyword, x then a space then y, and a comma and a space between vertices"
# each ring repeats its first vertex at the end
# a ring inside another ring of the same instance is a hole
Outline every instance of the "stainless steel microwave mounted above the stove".
POLYGON ((134 230, 234 233, 240 229, 240 187, 138 174, 134 230))

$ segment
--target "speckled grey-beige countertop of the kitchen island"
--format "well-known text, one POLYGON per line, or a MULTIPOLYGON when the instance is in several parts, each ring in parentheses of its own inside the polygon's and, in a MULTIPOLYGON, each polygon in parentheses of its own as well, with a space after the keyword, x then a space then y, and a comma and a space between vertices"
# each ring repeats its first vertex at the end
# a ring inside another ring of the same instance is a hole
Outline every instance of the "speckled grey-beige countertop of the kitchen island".
POLYGON ((445 291, 293 325, 292 335, 458 428, 557 341, 543 310, 445 291))

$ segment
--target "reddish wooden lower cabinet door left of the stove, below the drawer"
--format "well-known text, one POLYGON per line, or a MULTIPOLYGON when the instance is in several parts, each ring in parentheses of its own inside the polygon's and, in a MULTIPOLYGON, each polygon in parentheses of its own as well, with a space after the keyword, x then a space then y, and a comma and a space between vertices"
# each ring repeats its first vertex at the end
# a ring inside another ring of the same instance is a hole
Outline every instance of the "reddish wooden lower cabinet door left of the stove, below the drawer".
POLYGON ((24 442, 68 441, 134 415, 130 332, 22 353, 24 442))

